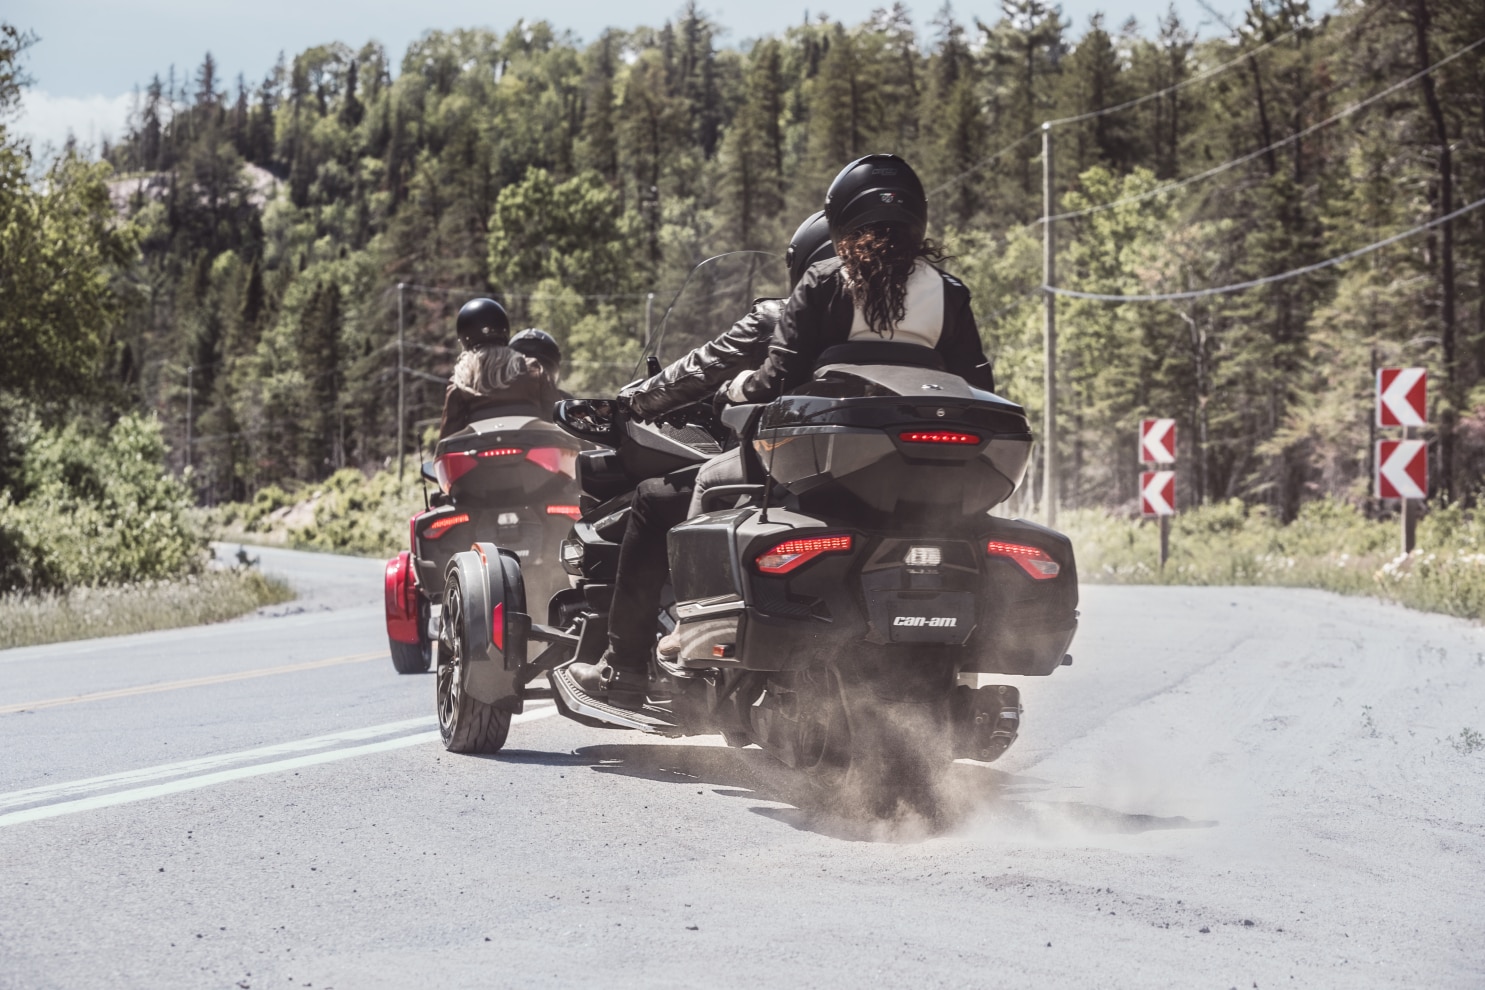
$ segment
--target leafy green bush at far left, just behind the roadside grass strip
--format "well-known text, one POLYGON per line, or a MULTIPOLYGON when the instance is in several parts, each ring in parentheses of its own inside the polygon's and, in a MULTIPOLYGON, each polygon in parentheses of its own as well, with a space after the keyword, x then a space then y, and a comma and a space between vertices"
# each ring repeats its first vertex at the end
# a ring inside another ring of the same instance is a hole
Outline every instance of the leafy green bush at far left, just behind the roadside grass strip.
POLYGON ((160 426, 21 423, 19 484, 0 491, 0 591, 166 580, 200 570, 190 490, 165 473, 160 426))

